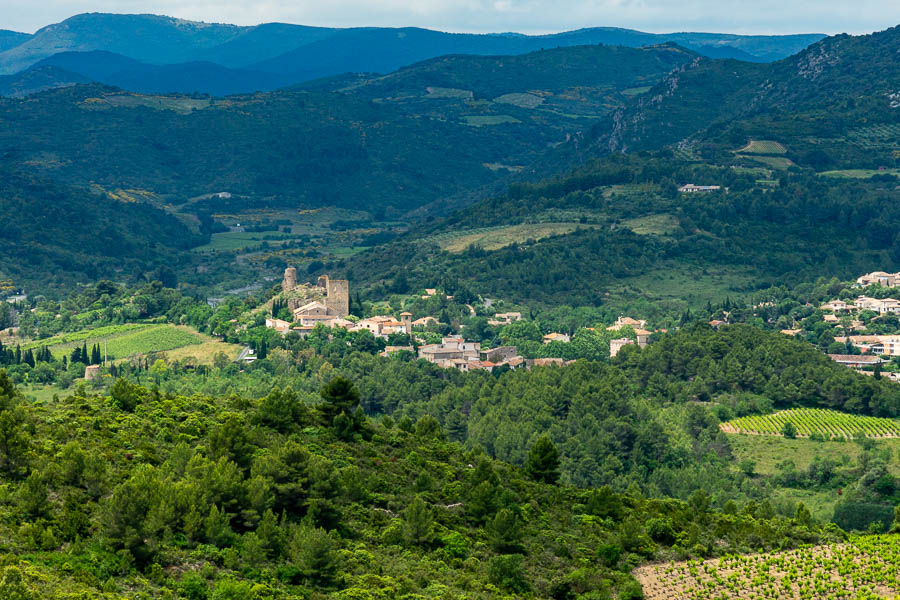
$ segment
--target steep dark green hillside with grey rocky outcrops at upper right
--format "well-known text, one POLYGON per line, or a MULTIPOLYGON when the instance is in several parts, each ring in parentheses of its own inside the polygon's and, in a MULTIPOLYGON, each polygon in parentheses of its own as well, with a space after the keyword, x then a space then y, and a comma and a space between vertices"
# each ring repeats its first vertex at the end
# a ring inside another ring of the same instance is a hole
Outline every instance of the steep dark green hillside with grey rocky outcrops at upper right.
POLYGON ((701 58, 617 114, 599 144, 621 151, 685 142, 720 158, 748 139, 778 140, 794 162, 817 170, 892 166, 896 136, 861 138, 900 123, 898 46, 893 27, 830 37, 768 65, 701 58))

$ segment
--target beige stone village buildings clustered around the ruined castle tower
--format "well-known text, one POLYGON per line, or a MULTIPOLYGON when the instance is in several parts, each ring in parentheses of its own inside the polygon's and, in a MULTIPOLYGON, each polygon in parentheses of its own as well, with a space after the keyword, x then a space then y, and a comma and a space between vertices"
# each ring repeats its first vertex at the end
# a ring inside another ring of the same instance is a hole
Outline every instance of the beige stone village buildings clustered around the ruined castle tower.
MULTIPOLYGON (((436 288, 426 288, 423 298, 440 294, 436 288)), ((409 345, 388 345, 381 352, 382 356, 408 352, 417 358, 426 360, 444 368, 460 371, 486 370, 493 371, 498 367, 510 369, 531 368, 533 366, 565 365, 573 361, 562 358, 524 358, 516 346, 482 347, 478 341, 467 340, 463 336, 444 336, 440 343, 428 343, 426 329, 438 324, 436 316, 425 316, 413 320, 412 313, 401 312, 397 317, 392 315, 374 315, 357 318, 350 314, 350 284, 344 279, 331 279, 327 275, 319 277, 316 285, 298 283, 297 270, 288 267, 282 281, 281 298, 287 302, 292 321, 267 317, 265 325, 282 335, 297 333, 301 337, 311 334, 317 327, 328 329, 344 329, 348 332, 369 331, 383 340, 400 334, 407 336, 409 345)), ((452 296, 447 296, 452 299, 452 296)), ((503 326, 522 321, 521 312, 495 313, 488 319, 492 326, 503 326)), ((630 337, 623 335, 609 342, 610 356, 616 356, 622 348, 635 344, 645 347, 650 343, 653 332, 645 329, 646 320, 619 317, 614 325, 607 327, 609 332, 632 333, 630 337), (627 330, 625 328, 628 328, 627 330)), ((588 331, 594 331, 588 329, 588 331)), ((572 341, 573 336, 566 333, 550 332, 543 335, 544 344, 564 343, 572 341)))

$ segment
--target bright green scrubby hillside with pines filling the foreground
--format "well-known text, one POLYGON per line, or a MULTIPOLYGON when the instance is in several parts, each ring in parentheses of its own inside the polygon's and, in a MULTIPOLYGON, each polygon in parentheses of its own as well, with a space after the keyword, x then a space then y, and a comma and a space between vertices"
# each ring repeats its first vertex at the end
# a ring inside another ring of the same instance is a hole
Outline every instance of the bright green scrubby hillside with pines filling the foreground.
POLYGON ((24 402, 0 371, 6 598, 640 598, 650 560, 836 541, 805 508, 717 511, 557 484, 423 417, 375 424, 336 377, 314 405, 119 380, 24 402), (333 418, 333 420, 332 420, 333 418), (73 426, 73 424, 75 424, 73 426))

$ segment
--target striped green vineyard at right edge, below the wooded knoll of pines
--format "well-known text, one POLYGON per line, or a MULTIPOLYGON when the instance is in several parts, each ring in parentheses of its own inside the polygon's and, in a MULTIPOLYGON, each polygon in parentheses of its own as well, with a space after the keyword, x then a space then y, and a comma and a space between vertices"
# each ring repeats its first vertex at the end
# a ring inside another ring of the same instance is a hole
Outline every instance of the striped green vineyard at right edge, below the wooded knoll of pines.
POLYGON ((785 424, 796 429, 797 437, 818 434, 824 439, 852 439, 862 434, 871 438, 900 437, 900 423, 893 419, 848 415, 819 408, 794 408, 771 415, 752 415, 722 423, 725 433, 783 435, 785 424))

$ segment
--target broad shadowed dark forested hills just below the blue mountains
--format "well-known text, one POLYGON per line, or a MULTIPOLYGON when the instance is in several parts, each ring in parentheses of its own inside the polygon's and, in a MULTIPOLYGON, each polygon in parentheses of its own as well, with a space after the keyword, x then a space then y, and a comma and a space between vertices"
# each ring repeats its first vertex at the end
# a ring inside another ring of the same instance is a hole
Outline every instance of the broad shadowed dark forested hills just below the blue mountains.
MULTIPOLYGON (((359 92, 221 100, 78 86, 27 102, 0 99, 0 152, 53 179, 139 188, 176 205, 229 191, 257 204, 399 214, 523 169, 622 104, 621 92, 660 81, 691 56, 670 47, 591 47, 506 62, 460 59, 411 68, 406 75, 418 79, 403 93, 392 79, 359 92), (551 83, 560 71, 572 75, 551 83)), ((120 66, 115 57, 98 61, 98 76, 120 66)), ((151 80, 163 67, 154 69, 151 80)))

